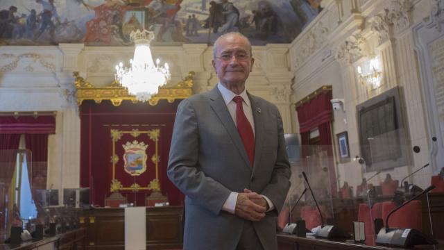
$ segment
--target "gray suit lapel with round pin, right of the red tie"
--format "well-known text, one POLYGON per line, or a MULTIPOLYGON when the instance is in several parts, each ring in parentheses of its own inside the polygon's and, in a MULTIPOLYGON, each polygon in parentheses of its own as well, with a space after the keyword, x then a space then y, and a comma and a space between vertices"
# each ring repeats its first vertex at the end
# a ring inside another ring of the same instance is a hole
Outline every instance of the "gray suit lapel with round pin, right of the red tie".
POLYGON ((250 98, 253 119, 255 120, 255 161, 253 164, 253 174, 259 165, 260 156, 262 154, 262 145, 264 144, 264 124, 266 121, 264 120, 265 118, 259 99, 250 93, 248 93, 248 97, 250 98))

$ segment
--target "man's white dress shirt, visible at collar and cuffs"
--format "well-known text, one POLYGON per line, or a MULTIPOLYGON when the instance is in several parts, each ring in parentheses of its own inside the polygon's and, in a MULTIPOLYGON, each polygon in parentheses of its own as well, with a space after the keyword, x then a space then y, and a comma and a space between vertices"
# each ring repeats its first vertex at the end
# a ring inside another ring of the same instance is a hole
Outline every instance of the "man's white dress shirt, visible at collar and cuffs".
MULTIPOLYGON (((233 101, 233 98, 237 96, 237 94, 234 94, 231 90, 228 90, 223 86, 221 83, 217 84, 217 88, 222 94, 223 101, 225 101, 225 105, 228 108, 228 112, 230 112, 231 118, 233 119, 234 124, 237 126, 236 123, 236 103, 233 101)), ((255 135, 255 120, 253 119, 253 111, 251 110, 251 103, 250 99, 248 98, 248 94, 246 90, 241 92, 239 94, 244 101, 242 102, 242 108, 244 108, 245 116, 248 119, 248 122, 250 122, 251 128, 253 128, 253 135, 255 135)), ((222 210, 227 211, 228 213, 234 214, 234 210, 236 209, 236 201, 237 201, 237 192, 231 192, 230 196, 228 196, 228 199, 223 203, 222 210)), ((268 211, 271 211, 275 208, 273 202, 271 202, 270 199, 262 195, 266 202, 268 203, 268 211)))

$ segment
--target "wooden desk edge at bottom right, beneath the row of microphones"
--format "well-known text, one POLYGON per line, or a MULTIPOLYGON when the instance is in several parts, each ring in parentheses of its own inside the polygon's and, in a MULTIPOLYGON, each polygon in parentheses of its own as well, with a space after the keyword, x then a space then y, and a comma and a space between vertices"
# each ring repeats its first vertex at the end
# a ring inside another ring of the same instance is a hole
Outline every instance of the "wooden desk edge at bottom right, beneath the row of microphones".
MULTIPOLYGON (((294 235, 278 234, 279 250, 400 250, 401 247, 366 246, 353 242, 323 239, 300 238, 294 235)), ((433 245, 418 246, 413 249, 434 249, 433 245)), ((436 245, 437 250, 444 250, 443 245, 436 245)))

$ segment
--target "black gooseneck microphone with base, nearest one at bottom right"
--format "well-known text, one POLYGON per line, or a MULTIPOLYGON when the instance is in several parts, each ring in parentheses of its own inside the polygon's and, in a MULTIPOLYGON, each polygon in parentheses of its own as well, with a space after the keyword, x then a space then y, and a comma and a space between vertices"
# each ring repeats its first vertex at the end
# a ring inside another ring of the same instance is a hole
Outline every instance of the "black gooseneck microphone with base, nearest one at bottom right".
POLYGON ((390 228, 388 226, 388 218, 393 215, 396 211, 400 210, 400 208, 406 206, 411 201, 417 199, 422 194, 430 192, 436 188, 434 185, 429 186, 424 191, 420 192, 420 194, 415 197, 409 199, 404 204, 391 210, 386 217, 386 226, 382 228, 377 234, 376 243, 377 244, 389 244, 398 247, 413 247, 417 244, 438 244, 434 238, 430 238, 429 236, 421 233, 420 231, 414 228, 390 228))

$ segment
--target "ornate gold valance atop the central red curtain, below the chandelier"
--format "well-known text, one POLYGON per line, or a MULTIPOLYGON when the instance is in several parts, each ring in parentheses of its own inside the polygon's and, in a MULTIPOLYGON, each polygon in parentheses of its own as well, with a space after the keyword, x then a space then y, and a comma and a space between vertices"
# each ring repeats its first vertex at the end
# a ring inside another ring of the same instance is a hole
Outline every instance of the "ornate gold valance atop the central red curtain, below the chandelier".
MULTIPOLYGON (((94 100, 101 103, 103 100, 110 100, 112 105, 120 106, 123 100, 130 100, 137 103, 135 96, 128 94, 128 90, 123 88, 117 81, 113 81, 109 86, 94 87, 81 77, 78 72, 73 72, 76 81, 74 85, 77 90, 77 105, 80 106, 84 100, 94 100)), ((159 93, 151 97, 148 103, 152 106, 157 105, 159 100, 166 99, 173 103, 176 99, 185 99, 193 94, 193 76, 194 72, 188 72, 188 75, 177 85, 159 88, 159 93)))

